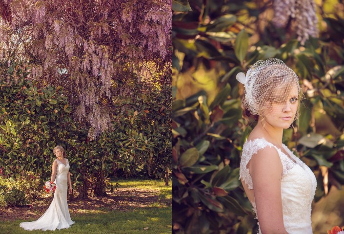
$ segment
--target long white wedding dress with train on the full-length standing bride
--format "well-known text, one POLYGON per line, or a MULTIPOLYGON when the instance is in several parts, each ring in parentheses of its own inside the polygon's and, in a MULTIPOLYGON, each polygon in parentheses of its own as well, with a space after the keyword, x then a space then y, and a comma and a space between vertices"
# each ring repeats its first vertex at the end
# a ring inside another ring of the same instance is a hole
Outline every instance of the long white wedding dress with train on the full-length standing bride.
POLYGON ((66 166, 56 159, 57 166, 57 175, 55 179, 56 191, 54 194, 54 199, 51 202, 48 210, 44 212, 39 219, 33 222, 24 222, 20 223, 20 227, 25 230, 56 230, 69 228, 73 222, 70 219, 68 204, 67 204, 67 174, 69 171, 69 163, 66 159, 66 166))

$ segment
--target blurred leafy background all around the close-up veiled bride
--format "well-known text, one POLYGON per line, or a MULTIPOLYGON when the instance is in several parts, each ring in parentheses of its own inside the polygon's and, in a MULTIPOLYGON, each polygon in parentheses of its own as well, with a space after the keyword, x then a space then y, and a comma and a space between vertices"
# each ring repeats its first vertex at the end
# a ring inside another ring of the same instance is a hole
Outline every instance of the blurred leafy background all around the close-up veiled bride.
POLYGON ((173 0, 172 7, 173 232, 258 231, 238 180, 254 122, 242 118, 243 86, 235 75, 269 57, 300 78, 301 116, 283 142, 317 178, 313 231, 343 225, 343 3, 316 1, 319 36, 304 43, 295 22, 274 26, 272 1, 173 0))

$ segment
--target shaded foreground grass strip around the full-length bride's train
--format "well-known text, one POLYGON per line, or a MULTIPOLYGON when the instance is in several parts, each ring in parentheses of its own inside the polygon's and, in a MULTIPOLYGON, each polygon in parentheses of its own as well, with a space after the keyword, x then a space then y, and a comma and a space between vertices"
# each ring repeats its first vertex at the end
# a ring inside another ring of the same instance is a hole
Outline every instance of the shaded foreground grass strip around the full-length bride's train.
MULTIPOLYGON (((58 231, 59 234, 170 234, 172 229, 171 207, 144 207, 129 212, 111 211, 106 214, 87 214, 71 218, 76 223, 69 229, 58 231), (144 228, 148 229, 144 230, 144 228)), ((0 233, 52 233, 52 231, 25 231, 19 227, 21 221, 23 220, 1 222, 0 233)))

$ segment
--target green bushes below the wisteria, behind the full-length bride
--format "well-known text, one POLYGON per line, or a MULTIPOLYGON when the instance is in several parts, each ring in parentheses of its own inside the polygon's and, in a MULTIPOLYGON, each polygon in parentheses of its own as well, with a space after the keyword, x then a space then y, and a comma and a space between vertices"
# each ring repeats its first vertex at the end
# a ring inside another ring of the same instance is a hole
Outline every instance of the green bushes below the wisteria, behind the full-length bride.
POLYGON ((89 189, 105 196, 106 189, 116 188, 109 177, 120 171, 127 177, 165 177, 168 181, 168 87, 137 95, 133 103, 123 106, 127 111, 118 113, 112 129, 90 141, 85 125, 70 118, 71 107, 61 87, 38 90, 36 83, 26 78, 26 67, 16 63, 9 67, 7 61, 1 63, 0 72, 0 168, 4 175, 32 172, 39 176, 40 183, 50 180, 55 159, 52 149, 59 144, 66 149, 73 187, 81 198, 89 195, 89 189))

